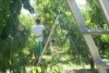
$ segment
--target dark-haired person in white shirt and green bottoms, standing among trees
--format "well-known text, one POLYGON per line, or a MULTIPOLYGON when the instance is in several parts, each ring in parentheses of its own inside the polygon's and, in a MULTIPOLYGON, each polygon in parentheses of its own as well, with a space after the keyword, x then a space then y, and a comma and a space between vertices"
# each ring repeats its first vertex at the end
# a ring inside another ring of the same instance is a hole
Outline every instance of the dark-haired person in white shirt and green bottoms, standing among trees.
POLYGON ((39 57, 43 52, 43 31, 45 29, 45 26, 40 23, 40 19, 36 19, 36 24, 32 27, 32 32, 36 38, 36 47, 35 47, 35 62, 37 63, 39 60, 39 57))

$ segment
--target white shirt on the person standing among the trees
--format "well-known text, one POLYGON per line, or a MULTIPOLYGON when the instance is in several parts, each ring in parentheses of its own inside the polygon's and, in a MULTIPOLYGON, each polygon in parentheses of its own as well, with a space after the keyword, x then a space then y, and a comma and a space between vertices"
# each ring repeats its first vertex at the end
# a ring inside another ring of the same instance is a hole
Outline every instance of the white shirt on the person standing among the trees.
POLYGON ((43 31, 45 29, 45 26, 39 24, 39 25, 34 25, 32 27, 33 34, 36 36, 36 41, 43 41, 43 31))

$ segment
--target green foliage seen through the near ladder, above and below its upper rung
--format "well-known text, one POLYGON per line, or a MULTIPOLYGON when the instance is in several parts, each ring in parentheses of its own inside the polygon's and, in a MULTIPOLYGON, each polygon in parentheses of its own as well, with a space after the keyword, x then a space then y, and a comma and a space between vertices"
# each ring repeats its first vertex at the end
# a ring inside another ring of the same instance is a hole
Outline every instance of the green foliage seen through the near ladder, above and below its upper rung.
MULTIPOLYGON (((87 0, 86 11, 87 11, 86 12, 86 23, 89 28, 108 29, 108 25, 104 17, 102 11, 99 8, 98 2, 96 0, 87 0)), ((101 57, 107 54, 106 50, 109 49, 108 38, 109 38, 108 35, 94 36, 95 42, 99 48, 99 52, 101 57)))

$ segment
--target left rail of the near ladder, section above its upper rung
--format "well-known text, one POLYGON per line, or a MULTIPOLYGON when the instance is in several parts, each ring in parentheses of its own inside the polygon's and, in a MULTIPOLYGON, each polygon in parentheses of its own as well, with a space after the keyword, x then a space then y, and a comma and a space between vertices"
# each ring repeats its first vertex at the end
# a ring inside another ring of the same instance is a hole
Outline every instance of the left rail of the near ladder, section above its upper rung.
POLYGON ((85 25, 85 23, 83 22, 84 19, 82 17, 82 14, 81 14, 81 12, 80 12, 80 10, 77 8, 77 4, 75 4, 74 1, 75 0, 66 0, 68 4, 69 4, 69 7, 70 7, 70 9, 72 11, 73 16, 74 16, 76 23, 78 24, 78 27, 80 27, 81 32, 83 33, 83 32, 88 31, 88 28, 85 25))

